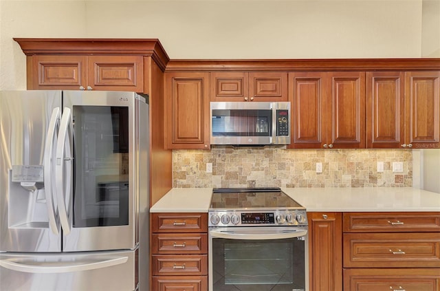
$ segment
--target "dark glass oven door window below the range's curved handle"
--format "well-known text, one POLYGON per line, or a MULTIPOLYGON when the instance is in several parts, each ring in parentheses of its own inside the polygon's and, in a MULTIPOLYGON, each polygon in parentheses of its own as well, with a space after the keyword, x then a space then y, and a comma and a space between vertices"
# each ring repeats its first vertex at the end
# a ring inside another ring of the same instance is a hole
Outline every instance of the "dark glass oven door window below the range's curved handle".
POLYGON ((212 271, 214 290, 305 290, 305 241, 214 238, 212 271))

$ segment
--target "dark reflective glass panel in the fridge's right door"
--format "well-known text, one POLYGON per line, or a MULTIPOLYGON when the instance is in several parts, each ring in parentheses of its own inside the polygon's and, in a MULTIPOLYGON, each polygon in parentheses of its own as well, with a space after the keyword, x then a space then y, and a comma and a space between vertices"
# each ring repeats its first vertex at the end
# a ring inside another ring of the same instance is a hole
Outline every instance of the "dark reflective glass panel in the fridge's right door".
POLYGON ((74 227, 129 224, 129 109, 74 106, 74 227))

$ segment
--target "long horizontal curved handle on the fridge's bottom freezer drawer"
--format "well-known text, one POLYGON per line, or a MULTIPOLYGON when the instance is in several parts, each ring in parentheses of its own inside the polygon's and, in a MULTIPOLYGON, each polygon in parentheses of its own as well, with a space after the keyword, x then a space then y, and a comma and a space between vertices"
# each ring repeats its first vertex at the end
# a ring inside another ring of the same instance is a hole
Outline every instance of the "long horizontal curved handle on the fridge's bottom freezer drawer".
POLYGON ((47 262, 47 266, 44 263, 40 263, 30 259, 29 261, 14 259, 0 260, 0 266, 17 272, 28 273, 66 273, 66 272, 80 272, 86 270, 96 270, 101 268, 107 268, 111 266, 120 265, 126 263, 129 257, 116 257, 111 259, 90 261, 86 259, 85 262, 80 261, 77 264, 72 264, 72 261, 52 261, 47 262))

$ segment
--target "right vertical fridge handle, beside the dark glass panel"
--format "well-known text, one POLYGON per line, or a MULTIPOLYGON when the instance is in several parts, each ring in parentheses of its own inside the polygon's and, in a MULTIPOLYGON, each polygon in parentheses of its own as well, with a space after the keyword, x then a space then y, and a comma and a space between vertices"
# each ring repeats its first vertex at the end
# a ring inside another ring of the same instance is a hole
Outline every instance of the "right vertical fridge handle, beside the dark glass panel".
POLYGON ((64 235, 69 235, 71 230, 73 136, 72 113, 69 108, 65 107, 56 142, 55 161, 56 200, 64 235))

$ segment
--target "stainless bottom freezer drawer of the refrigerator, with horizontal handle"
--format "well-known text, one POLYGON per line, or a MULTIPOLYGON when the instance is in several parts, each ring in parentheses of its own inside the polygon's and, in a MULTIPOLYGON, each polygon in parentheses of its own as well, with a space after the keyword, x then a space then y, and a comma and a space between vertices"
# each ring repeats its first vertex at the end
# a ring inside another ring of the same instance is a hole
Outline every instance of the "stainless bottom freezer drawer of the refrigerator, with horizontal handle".
POLYGON ((0 290, 135 290, 136 250, 67 254, 0 253, 0 290))

